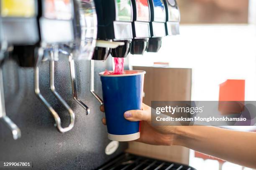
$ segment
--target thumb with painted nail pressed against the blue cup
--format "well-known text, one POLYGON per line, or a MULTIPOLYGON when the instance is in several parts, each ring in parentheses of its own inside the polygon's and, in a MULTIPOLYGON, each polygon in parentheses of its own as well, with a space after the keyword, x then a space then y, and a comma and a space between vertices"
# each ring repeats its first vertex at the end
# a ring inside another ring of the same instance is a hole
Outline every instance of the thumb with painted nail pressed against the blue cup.
POLYGON ((151 122, 151 112, 148 110, 129 110, 124 113, 124 117, 129 121, 151 122))

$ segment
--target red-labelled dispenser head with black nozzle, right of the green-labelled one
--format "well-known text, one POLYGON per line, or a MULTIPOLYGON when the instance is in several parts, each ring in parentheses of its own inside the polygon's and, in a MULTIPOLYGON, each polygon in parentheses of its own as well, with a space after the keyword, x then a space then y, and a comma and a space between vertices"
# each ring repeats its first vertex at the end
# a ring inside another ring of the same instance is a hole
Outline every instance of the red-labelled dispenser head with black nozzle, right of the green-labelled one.
POLYGON ((150 36, 150 7, 148 0, 132 0, 133 4, 133 41, 131 54, 142 55, 148 47, 150 36))

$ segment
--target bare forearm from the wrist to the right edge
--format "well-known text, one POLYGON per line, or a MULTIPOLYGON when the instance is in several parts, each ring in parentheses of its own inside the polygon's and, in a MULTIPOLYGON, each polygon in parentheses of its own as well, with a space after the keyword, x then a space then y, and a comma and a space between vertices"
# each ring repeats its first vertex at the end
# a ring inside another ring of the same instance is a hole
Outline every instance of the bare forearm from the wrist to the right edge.
POLYGON ((256 168, 256 133, 215 127, 177 127, 174 144, 232 163, 256 168))

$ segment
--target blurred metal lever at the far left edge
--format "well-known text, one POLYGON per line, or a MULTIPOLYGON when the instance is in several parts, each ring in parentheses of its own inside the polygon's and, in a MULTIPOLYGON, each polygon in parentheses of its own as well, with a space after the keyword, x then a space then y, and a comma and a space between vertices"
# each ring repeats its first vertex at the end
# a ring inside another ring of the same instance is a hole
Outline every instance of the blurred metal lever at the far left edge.
POLYGON ((5 112, 5 96, 4 96, 4 89, 3 89, 3 72, 2 68, 0 67, 0 120, 3 121, 5 125, 12 131, 13 139, 16 140, 21 137, 20 128, 18 128, 15 123, 8 116, 6 116, 5 112))

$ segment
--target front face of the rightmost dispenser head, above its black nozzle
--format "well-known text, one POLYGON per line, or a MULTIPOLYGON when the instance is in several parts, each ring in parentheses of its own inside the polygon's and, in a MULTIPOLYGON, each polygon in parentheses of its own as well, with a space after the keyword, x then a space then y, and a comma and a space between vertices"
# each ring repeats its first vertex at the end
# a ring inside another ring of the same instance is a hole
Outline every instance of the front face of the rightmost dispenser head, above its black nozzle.
POLYGON ((164 0, 166 35, 179 35, 180 12, 176 0, 164 0))

